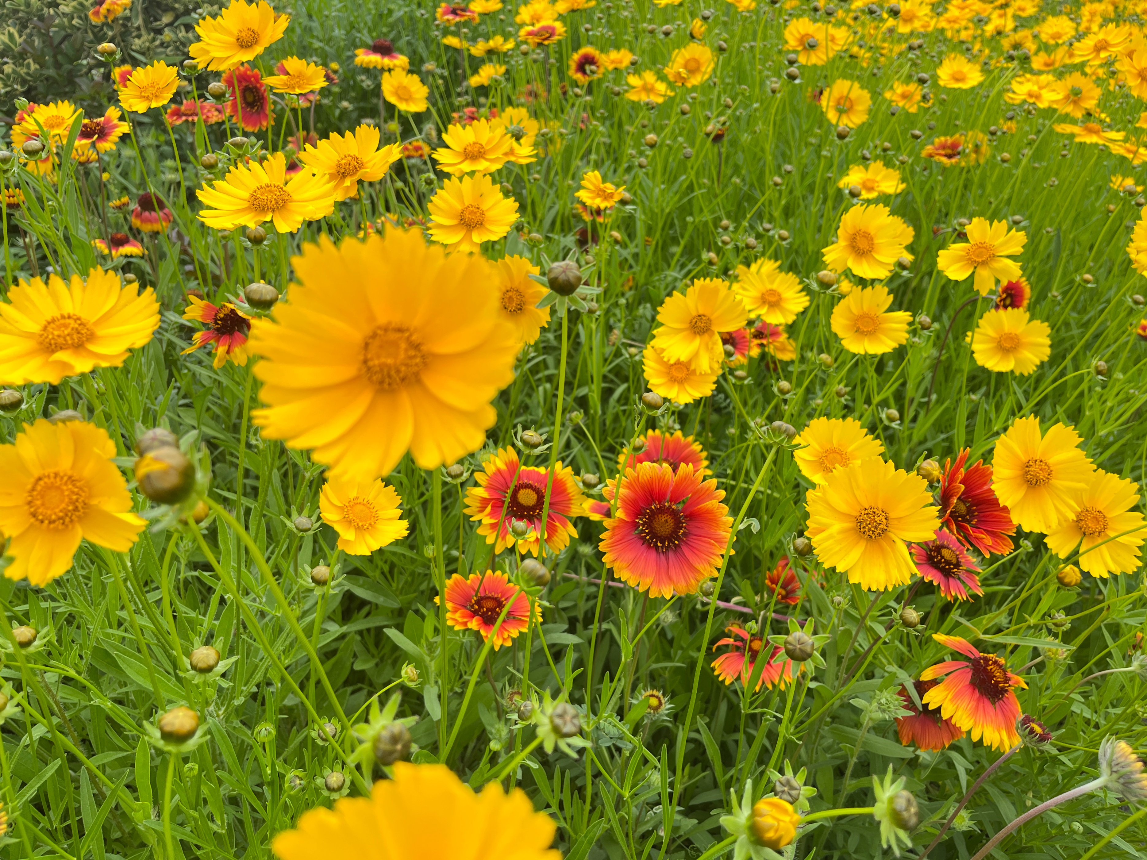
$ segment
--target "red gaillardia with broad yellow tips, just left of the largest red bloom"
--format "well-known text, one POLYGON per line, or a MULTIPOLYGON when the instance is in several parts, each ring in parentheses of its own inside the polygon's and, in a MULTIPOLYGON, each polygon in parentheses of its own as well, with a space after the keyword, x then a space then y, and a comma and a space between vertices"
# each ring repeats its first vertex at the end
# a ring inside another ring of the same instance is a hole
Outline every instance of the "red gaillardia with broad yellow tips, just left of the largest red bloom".
POLYGON ((548 469, 523 467, 514 448, 500 448, 482 468, 475 474, 478 485, 466 491, 466 513, 482 523, 478 534, 486 535, 486 544, 494 544, 496 553, 517 544, 517 552, 537 555, 545 532, 546 546, 556 555, 577 537, 568 517, 582 513, 585 499, 571 468, 562 468, 559 460, 551 478, 548 469), (543 522, 547 486, 549 507, 543 522), (514 534, 514 523, 529 526, 525 537, 514 534))

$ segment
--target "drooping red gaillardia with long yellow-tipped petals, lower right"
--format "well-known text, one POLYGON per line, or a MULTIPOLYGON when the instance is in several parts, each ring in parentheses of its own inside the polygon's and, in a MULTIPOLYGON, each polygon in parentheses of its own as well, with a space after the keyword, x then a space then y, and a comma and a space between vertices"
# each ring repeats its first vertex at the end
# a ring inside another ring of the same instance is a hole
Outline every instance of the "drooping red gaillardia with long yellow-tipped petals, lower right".
POLYGON ((952 720, 973 741, 982 737, 994 750, 1009 750, 1020 743, 1015 721, 1021 710, 1014 690, 1028 688, 1023 679, 1008 672, 1000 657, 981 654, 967 640, 943 633, 934 633, 933 639, 968 660, 945 660, 921 672, 921 681, 947 675, 924 693, 921 701, 929 709, 939 707, 941 717, 952 720))

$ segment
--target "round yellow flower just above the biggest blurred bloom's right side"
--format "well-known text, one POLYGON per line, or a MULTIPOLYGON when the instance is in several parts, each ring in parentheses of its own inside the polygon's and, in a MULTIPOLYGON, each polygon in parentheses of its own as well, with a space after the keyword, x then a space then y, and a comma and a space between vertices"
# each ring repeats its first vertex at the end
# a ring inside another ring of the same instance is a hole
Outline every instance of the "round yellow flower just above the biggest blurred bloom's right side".
POLYGON ((482 242, 501 239, 517 220, 517 201, 485 174, 447 179, 427 204, 434 225, 430 239, 458 251, 477 251, 482 242))

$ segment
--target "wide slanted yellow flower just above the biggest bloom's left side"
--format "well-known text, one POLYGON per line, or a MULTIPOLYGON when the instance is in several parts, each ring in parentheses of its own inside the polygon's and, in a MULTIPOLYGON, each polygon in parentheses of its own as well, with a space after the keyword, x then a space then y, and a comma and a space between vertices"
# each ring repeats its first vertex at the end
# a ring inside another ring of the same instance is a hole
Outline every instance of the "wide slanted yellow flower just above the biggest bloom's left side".
POLYGON ((280 233, 294 233, 335 210, 335 186, 325 175, 299 171, 287 177, 287 158, 275 153, 265 162, 236 164, 221 181, 196 191, 210 209, 200 220, 216 229, 258 227, 273 221, 280 233))

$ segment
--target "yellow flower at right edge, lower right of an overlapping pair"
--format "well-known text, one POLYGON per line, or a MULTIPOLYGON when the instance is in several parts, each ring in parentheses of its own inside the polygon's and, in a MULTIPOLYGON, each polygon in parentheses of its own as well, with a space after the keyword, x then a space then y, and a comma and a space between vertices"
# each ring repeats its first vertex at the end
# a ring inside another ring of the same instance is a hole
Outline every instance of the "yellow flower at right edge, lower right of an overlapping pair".
POLYGON ((1082 542, 1079 568, 1093 577, 1136 572, 1139 547, 1147 537, 1144 515, 1132 510, 1139 501, 1136 486, 1097 469, 1087 486, 1075 494, 1075 516, 1062 519, 1045 542, 1060 558, 1067 558, 1082 542))

